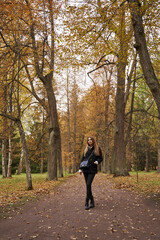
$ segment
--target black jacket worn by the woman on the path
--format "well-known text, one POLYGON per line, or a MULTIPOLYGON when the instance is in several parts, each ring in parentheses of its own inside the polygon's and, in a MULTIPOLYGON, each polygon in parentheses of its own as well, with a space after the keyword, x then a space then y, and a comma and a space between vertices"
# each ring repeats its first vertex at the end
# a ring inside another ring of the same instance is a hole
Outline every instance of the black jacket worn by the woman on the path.
POLYGON ((100 147, 99 147, 99 153, 100 153, 100 155, 96 156, 94 153, 94 147, 92 147, 92 148, 88 149, 88 151, 86 152, 86 156, 84 156, 84 154, 83 154, 81 162, 84 161, 86 158, 88 158, 92 154, 91 158, 89 159, 89 162, 90 162, 89 167, 81 168, 81 170, 84 173, 97 173, 97 164, 94 164, 94 162, 98 161, 98 164, 99 164, 103 161, 102 151, 101 151, 100 147))

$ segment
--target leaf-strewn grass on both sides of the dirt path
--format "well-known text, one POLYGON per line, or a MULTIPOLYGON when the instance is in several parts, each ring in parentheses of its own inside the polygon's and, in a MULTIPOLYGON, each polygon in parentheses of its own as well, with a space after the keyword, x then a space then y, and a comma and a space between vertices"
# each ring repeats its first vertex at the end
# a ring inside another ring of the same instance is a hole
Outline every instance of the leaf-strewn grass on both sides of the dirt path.
MULTIPOLYGON (((59 178, 58 181, 46 181, 47 174, 32 174, 33 190, 27 190, 26 175, 13 175, 12 178, 3 179, 0 176, 0 206, 10 206, 17 203, 39 198, 41 195, 56 191, 55 187, 65 181, 70 175, 59 178)), ((130 172, 129 177, 116 177, 107 175, 114 188, 129 189, 138 193, 160 196, 160 174, 153 172, 130 172)))

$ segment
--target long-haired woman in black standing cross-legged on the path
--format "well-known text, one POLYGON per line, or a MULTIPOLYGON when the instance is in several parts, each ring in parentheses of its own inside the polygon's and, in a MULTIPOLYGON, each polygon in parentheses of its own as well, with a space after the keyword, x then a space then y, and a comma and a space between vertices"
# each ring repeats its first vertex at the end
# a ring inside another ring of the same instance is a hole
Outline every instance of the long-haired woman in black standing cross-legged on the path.
POLYGON ((94 179, 95 174, 97 173, 97 165, 102 162, 102 152, 100 147, 98 147, 95 139, 93 137, 88 137, 87 139, 87 146, 84 149, 82 161, 89 158, 89 167, 87 168, 80 168, 80 174, 84 174, 85 182, 86 182, 86 202, 85 202, 85 209, 88 210, 89 208, 94 207, 94 198, 92 195, 92 182, 94 179), (90 206, 89 206, 90 200, 90 206))

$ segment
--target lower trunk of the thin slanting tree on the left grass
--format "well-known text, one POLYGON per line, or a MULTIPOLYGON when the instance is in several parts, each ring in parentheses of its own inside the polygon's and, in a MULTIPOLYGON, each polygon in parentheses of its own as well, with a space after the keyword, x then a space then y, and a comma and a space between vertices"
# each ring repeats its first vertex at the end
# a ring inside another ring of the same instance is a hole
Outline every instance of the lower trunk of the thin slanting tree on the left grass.
POLYGON ((31 167, 30 167, 30 159, 29 159, 29 154, 28 154, 28 147, 27 147, 25 132, 24 132, 24 129, 23 129, 23 126, 22 126, 22 123, 20 120, 16 121, 16 124, 19 129, 19 134, 20 134, 21 142, 22 142, 22 146, 23 146, 28 190, 32 190, 33 187, 32 187, 31 167))

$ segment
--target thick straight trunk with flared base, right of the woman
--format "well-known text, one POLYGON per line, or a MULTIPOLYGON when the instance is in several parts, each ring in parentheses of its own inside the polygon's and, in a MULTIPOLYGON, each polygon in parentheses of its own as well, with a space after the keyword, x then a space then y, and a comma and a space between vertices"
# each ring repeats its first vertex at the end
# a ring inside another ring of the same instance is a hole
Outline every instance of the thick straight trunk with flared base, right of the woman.
POLYGON ((120 16, 119 52, 117 66, 117 92, 115 106, 115 134, 114 147, 112 153, 112 172, 114 176, 129 175, 124 143, 124 123, 125 123, 125 69, 127 64, 128 41, 125 33, 125 8, 122 7, 120 16))

